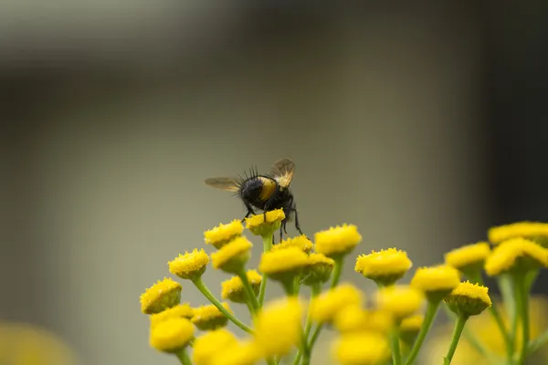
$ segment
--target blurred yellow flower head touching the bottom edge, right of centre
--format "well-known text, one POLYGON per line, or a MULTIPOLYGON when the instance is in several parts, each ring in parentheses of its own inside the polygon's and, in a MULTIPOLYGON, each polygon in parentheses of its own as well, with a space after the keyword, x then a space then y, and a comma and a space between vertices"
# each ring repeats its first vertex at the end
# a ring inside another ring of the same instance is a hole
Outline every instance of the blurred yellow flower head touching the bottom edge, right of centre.
POLYGON ((375 332, 344 334, 332 345, 333 359, 342 365, 380 365, 390 357, 386 337, 375 332))

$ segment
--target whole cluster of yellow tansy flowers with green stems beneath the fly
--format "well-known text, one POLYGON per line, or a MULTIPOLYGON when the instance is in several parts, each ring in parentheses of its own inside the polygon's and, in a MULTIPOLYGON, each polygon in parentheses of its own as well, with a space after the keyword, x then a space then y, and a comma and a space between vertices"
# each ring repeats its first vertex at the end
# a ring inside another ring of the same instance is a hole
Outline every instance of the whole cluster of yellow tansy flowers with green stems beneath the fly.
MULTIPOLYGON (((362 241, 355 225, 318 232, 313 242, 300 235, 273 245, 273 234, 284 219, 282 210, 247 218, 248 231, 263 243, 257 268, 248 267, 253 244, 237 220, 205 232, 205 244, 215 252, 208 255, 196 248, 169 261, 170 273, 192 283, 209 304, 194 308, 181 303, 182 286, 173 279, 154 284, 141 297, 142 312, 150 315, 150 345, 185 365, 276 365, 285 360, 310 365, 322 328, 332 328, 337 334, 332 363, 412 365, 439 308, 446 308, 454 321, 445 360, 439 363, 451 363, 469 318, 486 309, 504 339, 503 356, 509 364, 522 365, 548 341, 548 334, 529 339, 530 289, 539 270, 548 266, 544 224, 495 227, 489 232, 494 249, 488 242, 457 248, 445 255, 443 264, 416 268, 409 284, 398 283, 413 267, 405 251, 388 248, 357 255, 354 270, 377 285, 374 293, 366 294, 355 284, 339 283, 345 261, 362 241), (202 280, 210 262, 230 275, 219 293, 226 302, 202 280), (484 272, 498 279, 504 304, 513 308, 512 326, 491 301, 484 272), (269 281, 286 296, 265 302, 269 281), (302 293, 306 287, 309 299, 302 293), (247 306, 251 323, 235 316, 230 306, 238 304, 247 306), (228 322, 243 336, 229 331, 228 322)), ((495 359, 487 352, 484 356, 486 361, 495 359)))

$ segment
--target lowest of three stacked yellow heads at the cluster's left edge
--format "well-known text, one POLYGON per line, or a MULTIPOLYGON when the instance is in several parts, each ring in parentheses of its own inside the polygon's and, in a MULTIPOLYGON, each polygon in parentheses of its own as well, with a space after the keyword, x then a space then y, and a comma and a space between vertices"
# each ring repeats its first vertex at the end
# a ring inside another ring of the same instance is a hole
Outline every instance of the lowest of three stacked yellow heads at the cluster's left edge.
POLYGON ((194 326, 186 318, 170 318, 151 328, 151 346, 163 352, 184 349, 194 337, 194 326))

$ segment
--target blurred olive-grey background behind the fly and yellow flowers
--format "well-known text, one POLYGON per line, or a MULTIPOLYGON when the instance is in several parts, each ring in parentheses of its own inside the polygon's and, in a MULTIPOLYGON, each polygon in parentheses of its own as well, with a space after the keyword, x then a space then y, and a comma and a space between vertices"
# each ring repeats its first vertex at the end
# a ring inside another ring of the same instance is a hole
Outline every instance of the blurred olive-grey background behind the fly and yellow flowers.
POLYGON ((205 178, 281 157, 305 233, 357 224, 416 266, 548 220, 539 4, 1 1, 0 319, 79 364, 174 363, 140 294, 243 216, 205 178))

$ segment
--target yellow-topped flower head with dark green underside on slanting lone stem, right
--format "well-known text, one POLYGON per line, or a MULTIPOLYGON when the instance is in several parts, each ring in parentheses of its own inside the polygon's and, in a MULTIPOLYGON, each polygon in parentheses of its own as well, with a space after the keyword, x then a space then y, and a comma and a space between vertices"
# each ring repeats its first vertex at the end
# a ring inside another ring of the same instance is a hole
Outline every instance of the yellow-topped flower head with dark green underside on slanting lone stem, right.
POLYGON ((444 301, 447 303, 448 308, 458 315, 476 316, 491 306, 488 291, 488 287, 467 281, 455 287, 444 301))

